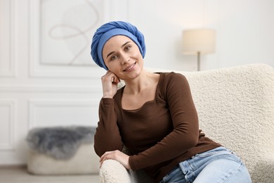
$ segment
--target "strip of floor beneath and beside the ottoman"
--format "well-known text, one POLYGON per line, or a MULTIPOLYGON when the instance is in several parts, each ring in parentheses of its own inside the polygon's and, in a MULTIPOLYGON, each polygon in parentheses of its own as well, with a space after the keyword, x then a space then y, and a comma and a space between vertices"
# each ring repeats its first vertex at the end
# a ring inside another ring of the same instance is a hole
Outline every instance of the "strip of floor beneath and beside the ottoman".
POLYGON ((2 183, 99 183, 98 175, 41 176, 30 175, 22 167, 1 167, 0 182, 2 183))

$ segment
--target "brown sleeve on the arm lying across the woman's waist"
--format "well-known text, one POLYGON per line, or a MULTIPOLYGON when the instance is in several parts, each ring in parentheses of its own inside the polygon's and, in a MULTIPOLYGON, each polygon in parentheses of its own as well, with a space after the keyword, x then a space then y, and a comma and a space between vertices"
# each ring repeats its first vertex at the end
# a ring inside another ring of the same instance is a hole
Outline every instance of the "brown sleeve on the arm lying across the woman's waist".
POLYGON ((164 97, 174 130, 150 149, 130 156, 129 165, 132 170, 171 160, 197 144, 199 125, 188 81, 183 75, 172 73, 171 76, 167 77, 162 89, 165 91, 164 97))

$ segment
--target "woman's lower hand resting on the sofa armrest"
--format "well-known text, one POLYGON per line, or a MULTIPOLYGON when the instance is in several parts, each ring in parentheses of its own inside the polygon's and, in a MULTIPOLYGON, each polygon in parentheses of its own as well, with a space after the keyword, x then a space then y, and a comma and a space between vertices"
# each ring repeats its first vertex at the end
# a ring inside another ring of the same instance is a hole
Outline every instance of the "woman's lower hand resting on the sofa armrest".
POLYGON ((107 151, 100 157, 100 168, 104 162, 104 160, 117 160, 119 163, 121 163, 124 168, 131 169, 129 165, 129 156, 125 153, 122 153, 121 151, 107 151))

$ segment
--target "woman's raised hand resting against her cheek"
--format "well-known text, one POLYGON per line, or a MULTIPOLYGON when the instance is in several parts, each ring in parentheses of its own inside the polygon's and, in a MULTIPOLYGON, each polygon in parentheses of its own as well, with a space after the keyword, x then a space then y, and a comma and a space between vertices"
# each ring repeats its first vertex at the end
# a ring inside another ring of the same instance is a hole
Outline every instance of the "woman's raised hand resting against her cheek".
POLYGON ((107 73, 101 77, 103 86, 103 98, 113 98, 117 92, 117 84, 120 82, 113 72, 107 70, 107 73))

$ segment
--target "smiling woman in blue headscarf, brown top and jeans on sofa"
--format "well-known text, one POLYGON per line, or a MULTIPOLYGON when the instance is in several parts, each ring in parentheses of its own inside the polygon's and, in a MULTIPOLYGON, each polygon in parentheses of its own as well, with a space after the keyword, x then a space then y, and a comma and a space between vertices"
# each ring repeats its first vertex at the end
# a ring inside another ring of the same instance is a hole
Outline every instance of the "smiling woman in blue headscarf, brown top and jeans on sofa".
POLYGON ((94 136, 100 163, 143 169, 155 182, 251 182, 240 158, 199 130, 188 81, 143 69, 143 34, 125 22, 98 28, 91 56, 107 70, 94 136), (124 80, 125 87, 117 90, 124 80), (132 156, 122 153, 123 146, 132 156))

